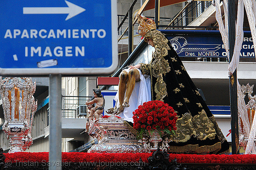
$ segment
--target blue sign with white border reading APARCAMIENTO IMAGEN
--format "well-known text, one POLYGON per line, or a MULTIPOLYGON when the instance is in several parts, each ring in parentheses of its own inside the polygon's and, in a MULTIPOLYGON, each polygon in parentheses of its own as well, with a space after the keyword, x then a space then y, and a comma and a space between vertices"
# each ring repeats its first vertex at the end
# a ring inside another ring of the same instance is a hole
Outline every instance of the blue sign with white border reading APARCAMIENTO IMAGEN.
POLYGON ((0 75, 108 75, 117 67, 112 1, 0 1, 0 75))

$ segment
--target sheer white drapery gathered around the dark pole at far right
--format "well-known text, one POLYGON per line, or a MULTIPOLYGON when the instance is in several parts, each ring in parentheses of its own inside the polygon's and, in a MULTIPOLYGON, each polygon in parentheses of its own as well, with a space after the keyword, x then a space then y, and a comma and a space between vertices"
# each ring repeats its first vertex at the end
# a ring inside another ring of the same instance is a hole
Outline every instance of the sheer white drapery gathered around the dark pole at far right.
MULTIPOLYGON (((224 15, 225 15, 225 27, 222 20, 221 15, 221 8, 220 8, 220 0, 215 1, 216 6, 216 20, 219 24, 219 30, 222 36, 222 41, 224 43, 225 50, 227 52, 227 56, 229 57, 229 48, 228 48, 228 25, 227 25, 227 0, 223 0, 223 9, 224 9, 224 15)), ((231 76, 236 70, 238 64, 239 64, 239 58, 240 58, 240 51, 243 43, 243 18, 244 18, 244 7, 246 9, 250 29, 251 29, 251 35, 253 39, 253 45, 256 45, 256 29, 255 29, 255 16, 256 16, 256 2, 255 0, 239 0, 238 1, 238 16, 237 16, 237 23, 236 23, 236 41, 234 45, 234 53, 232 56, 232 59, 228 65, 228 76, 231 76)), ((254 48, 254 54, 256 56, 256 49, 254 48)), ((243 121, 244 130, 245 133, 249 134, 249 139, 246 146, 245 154, 256 154, 256 147, 254 143, 254 137, 256 134, 256 119, 253 119, 252 127, 250 128, 249 125, 249 119, 247 115, 247 110, 243 98, 243 94, 241 91, 241 87, 239 85, 239 82, 237 80, 238 84, 238 111, 240 114, 240 117, 243 121)), ((255 114, 256 115, 256 114, 255 114)), ((254 116, 256 117, 256 116, 254 116)))

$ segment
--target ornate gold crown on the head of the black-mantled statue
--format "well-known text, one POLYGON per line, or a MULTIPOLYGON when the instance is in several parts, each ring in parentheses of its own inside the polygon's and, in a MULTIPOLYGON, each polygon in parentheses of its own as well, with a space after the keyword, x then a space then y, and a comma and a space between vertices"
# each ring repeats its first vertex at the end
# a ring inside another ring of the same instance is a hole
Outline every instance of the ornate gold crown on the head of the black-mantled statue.
POLYGON ((139 14, 137 14, 138 17, 138 33, 139 35, 141 35, 142 37, 145 37, 145 35, 151 31, 151 30, 156 30, 156 23, 154 20, 152 19, 147 19, 146 21, 142 18, 142 16, 140 16, 139 14))

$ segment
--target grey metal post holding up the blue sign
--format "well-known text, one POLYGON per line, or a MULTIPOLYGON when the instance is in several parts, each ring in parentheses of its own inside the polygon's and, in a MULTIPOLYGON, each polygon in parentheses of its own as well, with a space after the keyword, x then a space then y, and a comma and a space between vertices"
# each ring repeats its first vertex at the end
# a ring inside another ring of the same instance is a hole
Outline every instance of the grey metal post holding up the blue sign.
POLYGON ((49 170, 61 170, 61 75, 49 75, 49 170))

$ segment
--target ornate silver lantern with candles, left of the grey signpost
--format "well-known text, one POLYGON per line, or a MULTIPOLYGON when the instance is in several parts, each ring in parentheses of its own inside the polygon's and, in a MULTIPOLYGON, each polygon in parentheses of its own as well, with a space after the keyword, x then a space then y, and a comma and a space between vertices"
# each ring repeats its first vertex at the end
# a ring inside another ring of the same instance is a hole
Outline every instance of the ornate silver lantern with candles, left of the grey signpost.
POLYGON ((37 102, 33 96, 36 83, 32 83, 32 78, 0 79, 5 116, 3 131, 9 139, 9 153, 26 151, 33 143, 31 130, 37 109, 37 102))

